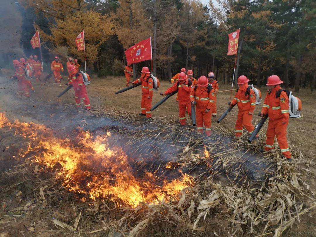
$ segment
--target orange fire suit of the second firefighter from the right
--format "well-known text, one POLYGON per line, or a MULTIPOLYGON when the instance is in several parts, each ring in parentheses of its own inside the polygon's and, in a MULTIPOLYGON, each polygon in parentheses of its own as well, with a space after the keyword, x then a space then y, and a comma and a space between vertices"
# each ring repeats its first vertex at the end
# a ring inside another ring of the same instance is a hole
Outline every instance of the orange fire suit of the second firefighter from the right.
MULTIPOLYGON (((242 134, 243 126, 247 129, 249 134, 254 130, 254 127, 251 123, 252 114, 256 106, 256 96, 252 89, 249 91, 249 95, 245 95, 248 88, 248 83, 239 85, 238 91, 235 94, 234 99, 230 102, 231 105, 237 104, 238 114, 235 125, 235 136, 240 137, 242 134)), ((258 135, 257 135, 258 137, 258 135)))

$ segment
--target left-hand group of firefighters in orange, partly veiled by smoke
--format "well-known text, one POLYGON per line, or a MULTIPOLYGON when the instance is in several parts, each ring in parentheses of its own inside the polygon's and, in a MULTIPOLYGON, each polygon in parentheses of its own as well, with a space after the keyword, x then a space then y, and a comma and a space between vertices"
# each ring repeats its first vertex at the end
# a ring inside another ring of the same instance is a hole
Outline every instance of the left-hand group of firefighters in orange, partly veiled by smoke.
MULTIPOLYGON (((41 81, 43 65, 38 59, 37 55, 31 55, 27 60, 20 58, 20 61, 13 60, 13 65, 15 67, 15 77, 18 81, 18 93, 24 95, 25 97, 30 97, 29 89, 35 92, 34 87, 31 84, 31 79, 35 78, 36 82, 41 81)), ((79 107, 81 104, 81 99, 85 103, 87 109, 91 109, 90 100, 87 94, 86 87, 83 83, 82 74, 79 73, 79 63, 78 59, 73 60, 71 57, 67 61, 67 71, 68 71, 68 82, 67 85, 72 85, 75 90, 75 101, 76 106, 79 107)), ((52 74, 54 75, 55 83, 61 85, 62 76, 60 71, 64 71, 64 67, 59 61, 59 57, 56 56, 51 63, 52 74)))

